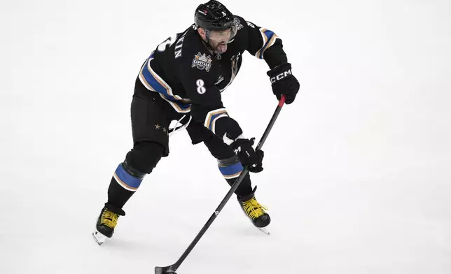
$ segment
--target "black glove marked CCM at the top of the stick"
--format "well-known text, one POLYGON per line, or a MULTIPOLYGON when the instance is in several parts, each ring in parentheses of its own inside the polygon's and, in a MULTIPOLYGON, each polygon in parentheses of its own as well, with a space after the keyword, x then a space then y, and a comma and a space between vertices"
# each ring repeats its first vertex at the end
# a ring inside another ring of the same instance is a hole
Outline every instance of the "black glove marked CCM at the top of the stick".
POLYGON ((272 93, 275 94, 277 100, 280 100, 282 95, 285 95, 285 103, 287 105, 293 103, 296 94, 298 94, 299 91, 299 82, 296 77, 291 74, 291 64, 280 64, 266 74, 270 76, 272 93))

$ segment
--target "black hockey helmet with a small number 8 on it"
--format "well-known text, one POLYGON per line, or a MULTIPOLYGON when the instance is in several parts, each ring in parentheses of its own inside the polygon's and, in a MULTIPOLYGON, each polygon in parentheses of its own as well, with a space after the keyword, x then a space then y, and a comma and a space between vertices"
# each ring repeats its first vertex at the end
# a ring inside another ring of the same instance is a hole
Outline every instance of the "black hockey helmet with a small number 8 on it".
POLYGON ((196 27, 208 31, 223 31, 235 28, 233 14, 222 3, 215 0, 197 6, 194 23, 196 27))

